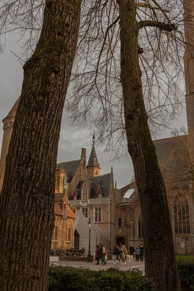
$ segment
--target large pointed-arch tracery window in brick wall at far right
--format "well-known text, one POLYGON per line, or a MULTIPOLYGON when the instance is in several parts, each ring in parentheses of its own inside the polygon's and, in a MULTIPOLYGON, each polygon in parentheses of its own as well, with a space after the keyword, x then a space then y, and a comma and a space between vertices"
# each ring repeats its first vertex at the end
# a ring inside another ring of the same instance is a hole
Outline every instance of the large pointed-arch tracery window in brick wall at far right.
POLYGON ((189 202, 187 197, 177 194, 174 199, 173 210, 175 234, 191 233, 189 202))

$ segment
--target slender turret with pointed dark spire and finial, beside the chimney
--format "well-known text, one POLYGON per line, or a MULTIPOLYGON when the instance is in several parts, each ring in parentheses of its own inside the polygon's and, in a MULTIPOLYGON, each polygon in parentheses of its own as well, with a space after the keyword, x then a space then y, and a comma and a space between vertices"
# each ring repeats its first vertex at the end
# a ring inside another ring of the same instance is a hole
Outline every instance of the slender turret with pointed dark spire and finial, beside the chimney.
POLYGON ((97 161, 97 153, 95 150, 95 134, 93 135, 93 146, 87 164, 88 179, 100 176, 100 165, 97 161))

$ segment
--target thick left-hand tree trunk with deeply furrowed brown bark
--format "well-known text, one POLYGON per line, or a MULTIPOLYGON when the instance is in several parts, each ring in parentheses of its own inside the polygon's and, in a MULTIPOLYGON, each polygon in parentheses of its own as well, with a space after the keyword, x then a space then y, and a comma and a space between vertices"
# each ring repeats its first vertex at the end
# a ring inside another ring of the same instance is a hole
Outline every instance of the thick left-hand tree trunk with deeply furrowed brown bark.
POLYGON ((0 290, 48 291, 54 174, 81 0, 46 0, 41 36, 24 65, 0 195, 0 290))

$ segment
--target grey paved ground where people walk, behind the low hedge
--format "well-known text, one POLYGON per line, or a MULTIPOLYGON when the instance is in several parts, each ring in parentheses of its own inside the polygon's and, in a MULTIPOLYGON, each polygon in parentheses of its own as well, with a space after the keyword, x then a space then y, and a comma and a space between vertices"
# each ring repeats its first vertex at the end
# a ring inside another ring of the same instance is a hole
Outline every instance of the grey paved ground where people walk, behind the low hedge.
POLYGON ((122 271, 127 271, 127 270, 131 270, 133 268, 139 269, 140 271, 145 272, 145 265, 144 262, 136 262, 135 260, 133 260, 133 262, 128 262, 125 265, 119 264, 117 263, 116 265, 114 265, 114 260, 108 260, 106 265, 103 265, 101 263, 99 263, 99 265, 96 265, 97 261, 95 260, 92 263, 87 263, 87 262, 77 262, 77 261, 50 261, 51 264, 57 264, 57 265, 61 265, 61 266, 72 266, 75 268, 89 268, 91 270, 94 271, 98 271, 100 269, 107 269, 107 268, 112 268, 112 267, 116 267, 119 268, 122 271))

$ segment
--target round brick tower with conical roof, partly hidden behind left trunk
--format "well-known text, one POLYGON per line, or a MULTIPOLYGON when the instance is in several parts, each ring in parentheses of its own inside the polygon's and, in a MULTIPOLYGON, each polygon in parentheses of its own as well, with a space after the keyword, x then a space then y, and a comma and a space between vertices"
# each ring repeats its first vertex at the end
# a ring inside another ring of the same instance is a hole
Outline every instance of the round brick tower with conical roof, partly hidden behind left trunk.
POLYGON ((8 115, 2 120, 3 122, 3 141, 1 146, 0 154, 0 191, 2 189, 3 178, 5 173, 5 162, 8 153, 9 143, 12 136, 12 130, 14 125, 14 120, 16 117, 16 110, 19 104, 20 97, 17 99, 16 103, 8 113, 8 115))

